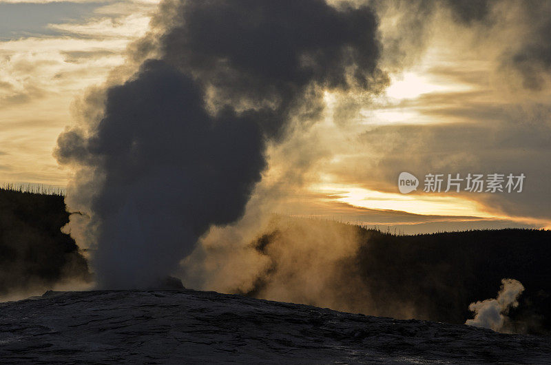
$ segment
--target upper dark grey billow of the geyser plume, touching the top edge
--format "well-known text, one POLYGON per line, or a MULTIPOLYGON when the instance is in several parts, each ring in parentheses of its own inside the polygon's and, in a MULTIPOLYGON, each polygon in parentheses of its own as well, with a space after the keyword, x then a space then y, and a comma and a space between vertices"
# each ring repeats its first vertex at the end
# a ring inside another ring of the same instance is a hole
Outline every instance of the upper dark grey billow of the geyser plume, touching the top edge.
MULTIPOLYGON (((179 25, 162 38, 164 58, 212 86, 222 101, 271 105, 262 125, 278 134, 306 88, 386 84, 377 68, 377 18, 367 7, 333 8, 321 0, 171 3, 179 25)), ((315 100, 311 100, 315 103, 315 100)), ((320 108, 320 105, 317 105, 320 108)), ((316 108, 310 105, 309 112, 316 108)))

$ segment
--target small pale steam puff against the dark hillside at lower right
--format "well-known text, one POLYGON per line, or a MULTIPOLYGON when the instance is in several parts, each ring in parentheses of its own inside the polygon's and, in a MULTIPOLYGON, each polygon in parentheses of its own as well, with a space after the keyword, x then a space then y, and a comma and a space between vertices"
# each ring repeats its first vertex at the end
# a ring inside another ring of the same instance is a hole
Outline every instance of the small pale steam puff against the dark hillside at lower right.
POLYGON ((475 318, 467 320, 465 324, 501 331, 508 318, 509 309, 519 305, 517 299, 523 291, 524 286, 521 282, 514 279, 501 280, 501 289, 499 289, 496 299, 470 304, 469 309, 475 313, 475 318))

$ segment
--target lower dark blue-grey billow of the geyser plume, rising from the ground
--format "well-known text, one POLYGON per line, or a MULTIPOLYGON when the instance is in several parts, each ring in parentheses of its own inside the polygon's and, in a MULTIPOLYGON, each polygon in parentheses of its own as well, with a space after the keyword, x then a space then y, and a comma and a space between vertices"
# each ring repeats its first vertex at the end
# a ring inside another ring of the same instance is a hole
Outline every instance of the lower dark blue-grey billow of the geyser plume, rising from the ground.
POLYGON ((148 61, 109 90, 94 136, 59 137, 60 162, 90 165, 105 178, 91 202, 103 285, 150 284, 169 273, 210 224, 239 218, 260 180, 255 121, 233 110, 209 116, 202 98, 194 81, 148 61))

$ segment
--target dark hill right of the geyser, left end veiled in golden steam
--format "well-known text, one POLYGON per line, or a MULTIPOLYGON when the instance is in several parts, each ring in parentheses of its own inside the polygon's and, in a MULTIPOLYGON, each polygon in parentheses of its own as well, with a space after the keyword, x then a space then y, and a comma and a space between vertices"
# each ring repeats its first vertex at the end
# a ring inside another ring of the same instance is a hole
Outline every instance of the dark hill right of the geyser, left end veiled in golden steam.
POLYGON ((245 292, 256 298, 461 324, 472 318, 470 303, 496 298, 501 279, 513 278, 526 290, 506 330, 551 333, 551 231, 396 236, 331 221, 284 219, 253 246, 271 262, 245 292), (298 282, 305 287, 295 290, 298 282))

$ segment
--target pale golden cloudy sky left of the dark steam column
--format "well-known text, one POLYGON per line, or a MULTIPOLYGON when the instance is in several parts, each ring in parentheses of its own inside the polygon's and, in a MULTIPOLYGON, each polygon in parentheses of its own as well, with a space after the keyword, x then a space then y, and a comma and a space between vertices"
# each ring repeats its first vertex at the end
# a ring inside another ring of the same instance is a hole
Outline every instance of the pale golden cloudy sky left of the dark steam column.
POLYGON ((143 35, 148 1, 0 1, 0 180, 67 183, 52 157, 85 88, 143 35))

